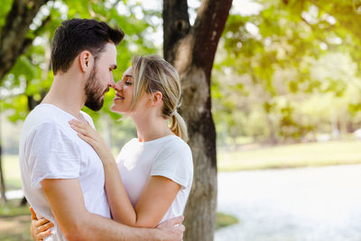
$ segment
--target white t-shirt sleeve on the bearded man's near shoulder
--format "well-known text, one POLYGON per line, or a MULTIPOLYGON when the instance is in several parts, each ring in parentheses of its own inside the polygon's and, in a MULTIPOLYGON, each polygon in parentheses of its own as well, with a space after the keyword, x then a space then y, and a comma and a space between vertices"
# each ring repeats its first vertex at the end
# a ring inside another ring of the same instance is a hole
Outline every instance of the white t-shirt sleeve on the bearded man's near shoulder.
POLYGON ((28 139, 32 186, 41 188, 44 179, 79 178, 80 158, 71 136, 60 125, 44 123, 28 139))

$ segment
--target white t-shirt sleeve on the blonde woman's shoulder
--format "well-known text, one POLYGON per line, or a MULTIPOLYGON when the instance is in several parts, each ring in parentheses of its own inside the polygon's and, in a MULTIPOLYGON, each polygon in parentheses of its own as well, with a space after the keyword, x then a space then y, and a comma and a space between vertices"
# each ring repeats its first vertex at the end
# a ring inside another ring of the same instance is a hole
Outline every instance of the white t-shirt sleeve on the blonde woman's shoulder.
POLYGON ((166 144, 153 161, 151 176, 162 176, 186 189, 193 177, 193 162, 188 144, 166 144))

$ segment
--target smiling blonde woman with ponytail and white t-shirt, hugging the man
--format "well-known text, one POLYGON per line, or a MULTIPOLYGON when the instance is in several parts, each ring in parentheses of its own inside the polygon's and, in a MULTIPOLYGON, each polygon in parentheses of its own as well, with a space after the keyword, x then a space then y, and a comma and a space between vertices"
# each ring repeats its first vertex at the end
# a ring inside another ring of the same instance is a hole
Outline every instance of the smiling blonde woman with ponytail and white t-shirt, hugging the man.
MULTIPOLYGON (((187 128, 177 112, 180 77, 160 57, 135 57, 114 88, 111 110, 131 117, 138 135, 125 144, 116 160, 88 123, 72 120, 69 124, 103 162, 112 217, 132 227, 156 227, 182 214, 193 178, 187 128)), ((36 222, 36 228, 32 225, 35 239, 50 234, 46 221, 36 222)))

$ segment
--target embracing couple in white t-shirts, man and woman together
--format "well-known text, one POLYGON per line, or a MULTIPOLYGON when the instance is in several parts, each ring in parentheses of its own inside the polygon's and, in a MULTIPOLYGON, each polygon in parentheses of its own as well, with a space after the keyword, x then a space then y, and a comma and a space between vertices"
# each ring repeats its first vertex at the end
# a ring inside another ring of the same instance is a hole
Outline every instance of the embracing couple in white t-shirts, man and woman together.
POLYGON ((177 112, 180 77, 157 56, 134 57, 115 82, 124 32, 88 19, 54 34, 49 93, 23 123, 19 158, 36 240, 181 240, 193 163, 177 112), (83 106, 129 116, 137 138, 116 157, 83 106))

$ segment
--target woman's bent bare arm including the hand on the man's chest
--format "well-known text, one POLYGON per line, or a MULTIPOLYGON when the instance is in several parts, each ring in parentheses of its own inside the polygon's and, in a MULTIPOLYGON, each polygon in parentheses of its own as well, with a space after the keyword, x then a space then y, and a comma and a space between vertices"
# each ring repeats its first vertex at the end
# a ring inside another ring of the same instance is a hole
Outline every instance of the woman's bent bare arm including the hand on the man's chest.
POLYGON ((162 176, 152 176, 147 181, 135 206, 130 202, 116 161, 100 134, 87 123, 69 122, 79 137, 92 145, 103 162, 106 177, 106 196, 113 218, 132 227, 156 227, 175 199, 180 184, 162 176))

